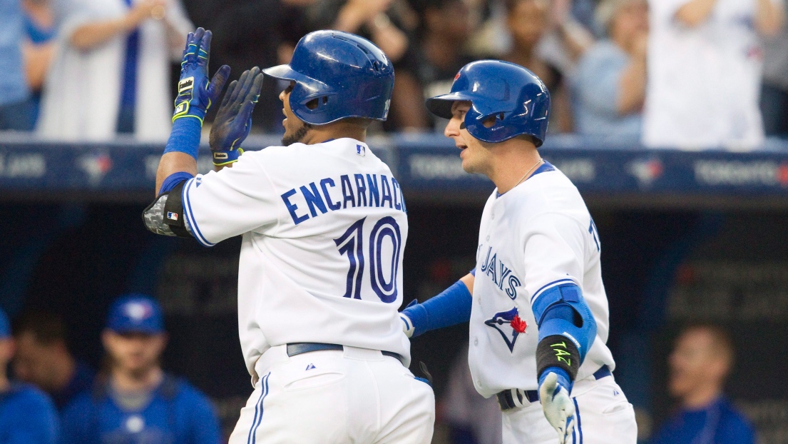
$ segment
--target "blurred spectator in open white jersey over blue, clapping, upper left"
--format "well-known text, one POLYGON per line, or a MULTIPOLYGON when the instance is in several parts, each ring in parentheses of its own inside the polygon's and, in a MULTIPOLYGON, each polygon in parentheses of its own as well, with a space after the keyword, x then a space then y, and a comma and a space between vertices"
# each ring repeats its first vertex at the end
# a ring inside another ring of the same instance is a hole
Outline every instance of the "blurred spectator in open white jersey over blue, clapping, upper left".
POLYGON ((194 29, 180 0, 61 0, 54 10, 58 50, 44 86, 40 134, 109 140, 125 132, 166 140, 169 61, 180 60, 194 29))

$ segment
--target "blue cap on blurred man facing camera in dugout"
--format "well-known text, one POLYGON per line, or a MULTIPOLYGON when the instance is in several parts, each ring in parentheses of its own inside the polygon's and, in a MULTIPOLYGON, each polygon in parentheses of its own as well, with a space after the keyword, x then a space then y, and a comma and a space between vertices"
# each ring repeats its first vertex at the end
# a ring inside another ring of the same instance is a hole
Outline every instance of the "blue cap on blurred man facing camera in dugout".
POLYGON ((115 333, 164 333, 164 316, 158 302, 144 294, 132 293, 115 300, 106 319, 106 328, 115 333))

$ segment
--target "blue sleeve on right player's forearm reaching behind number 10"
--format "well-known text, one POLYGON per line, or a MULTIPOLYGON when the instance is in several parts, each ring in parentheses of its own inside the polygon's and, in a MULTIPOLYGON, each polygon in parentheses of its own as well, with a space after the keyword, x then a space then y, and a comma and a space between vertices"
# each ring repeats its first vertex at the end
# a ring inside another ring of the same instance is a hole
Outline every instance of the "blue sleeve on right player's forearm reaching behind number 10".
POLYGON ((416 337, 429 330, 468 322, 472 301, 468 287, 462 281, 457 281, 424 304, 409 305, 403 314, 411 319, 413 337, 416 337))

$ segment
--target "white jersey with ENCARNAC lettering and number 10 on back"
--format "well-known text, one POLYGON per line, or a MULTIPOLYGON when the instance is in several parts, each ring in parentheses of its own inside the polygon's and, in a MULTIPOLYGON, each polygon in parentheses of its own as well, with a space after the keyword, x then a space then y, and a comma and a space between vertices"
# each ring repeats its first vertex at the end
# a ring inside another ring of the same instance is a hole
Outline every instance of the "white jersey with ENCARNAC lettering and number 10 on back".
POLYGON ((397 312, 405 203, 366 144, 343 138, 247 151, 232 168, 189 180, 183 203, 201 244, 243 234, 238 324, 251 375, 267 349, 293 342, 410 359, 397 312))

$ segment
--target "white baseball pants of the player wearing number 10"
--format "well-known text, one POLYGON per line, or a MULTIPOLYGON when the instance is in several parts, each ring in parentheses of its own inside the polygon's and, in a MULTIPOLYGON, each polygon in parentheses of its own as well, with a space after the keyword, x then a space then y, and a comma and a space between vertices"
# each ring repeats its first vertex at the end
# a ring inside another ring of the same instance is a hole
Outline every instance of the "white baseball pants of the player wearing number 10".
POLYGON ((229 444, 429 444, 435 395, 399 360, 344 347, 264 353, 229 444))

